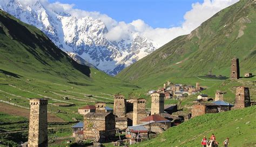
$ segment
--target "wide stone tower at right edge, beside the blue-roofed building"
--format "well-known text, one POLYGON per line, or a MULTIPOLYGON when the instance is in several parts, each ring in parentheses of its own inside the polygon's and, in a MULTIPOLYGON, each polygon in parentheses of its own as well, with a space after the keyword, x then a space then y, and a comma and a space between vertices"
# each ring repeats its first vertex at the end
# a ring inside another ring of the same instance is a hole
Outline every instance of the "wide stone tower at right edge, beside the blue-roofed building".
POLYGON ((235 91, 235 109, 250 107, 251 99, 248 87, 240 86, 235 91))

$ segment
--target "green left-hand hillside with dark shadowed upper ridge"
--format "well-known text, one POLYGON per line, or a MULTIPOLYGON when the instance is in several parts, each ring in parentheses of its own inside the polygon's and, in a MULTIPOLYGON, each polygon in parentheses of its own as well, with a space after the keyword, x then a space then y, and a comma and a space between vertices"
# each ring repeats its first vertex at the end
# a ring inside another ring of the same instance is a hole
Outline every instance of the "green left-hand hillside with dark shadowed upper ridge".
POLYGON ((74 122, 83 119, 77 114, 79 107, 97 101, 111 103, 113 94, 137 89, 102 71, 78 64, 36 27, 0 10, 0 112, 15 114, 14 109, 24 112, 17 115, 25 117, 29 98, 45 97, 49 98, 48 111, 52 115, 74 122), (7 105, 8 102, 17 107, 7 105), (60 107, 59 103, 73 106, 60 107), (2 109, 5 105, 11 109, 2 109))

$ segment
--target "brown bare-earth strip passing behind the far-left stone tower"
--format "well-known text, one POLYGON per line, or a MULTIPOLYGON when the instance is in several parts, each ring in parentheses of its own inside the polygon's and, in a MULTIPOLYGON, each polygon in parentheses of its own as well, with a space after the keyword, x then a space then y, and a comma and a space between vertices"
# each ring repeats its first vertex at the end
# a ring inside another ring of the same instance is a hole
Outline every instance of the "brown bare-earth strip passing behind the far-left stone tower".
MULTIPOLYGON (((2 102, 0 102, 0 112, 10 114, 10 115, 26 117, 27 119, 29 119, 29 113, 30 113, 29 109, 15 107, 12 105, 4 104, 2 102)), ((49 122, 65 122, 60 117, 57 117, 56 115, 49 114, 49 113, 48 113, 48 121, 49 122)))

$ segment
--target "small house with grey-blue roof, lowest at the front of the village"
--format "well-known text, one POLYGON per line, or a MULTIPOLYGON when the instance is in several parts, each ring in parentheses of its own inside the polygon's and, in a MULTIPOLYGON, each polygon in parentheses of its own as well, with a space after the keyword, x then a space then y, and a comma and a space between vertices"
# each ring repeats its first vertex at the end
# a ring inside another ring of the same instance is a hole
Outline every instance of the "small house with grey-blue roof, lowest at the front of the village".
POLYGON ((130 144, 141 142, 149 138, 149 130, 143 126, 129 126, 125 130, 125 137, 129 138, 130 144))

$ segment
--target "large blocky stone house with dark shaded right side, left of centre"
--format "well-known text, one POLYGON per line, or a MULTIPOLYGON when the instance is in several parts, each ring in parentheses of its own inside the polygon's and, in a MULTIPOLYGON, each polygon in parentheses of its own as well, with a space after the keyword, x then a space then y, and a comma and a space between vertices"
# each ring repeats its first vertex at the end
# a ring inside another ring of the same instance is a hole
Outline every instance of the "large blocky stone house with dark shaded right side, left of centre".
MULTIPOLYGON (((97 108, 97 107, 96 107, 97 108)), ((96 142, 112 141, 116 134, 116 121, 112 113, 87 113, 84 115, 84 139, 96 142)))

